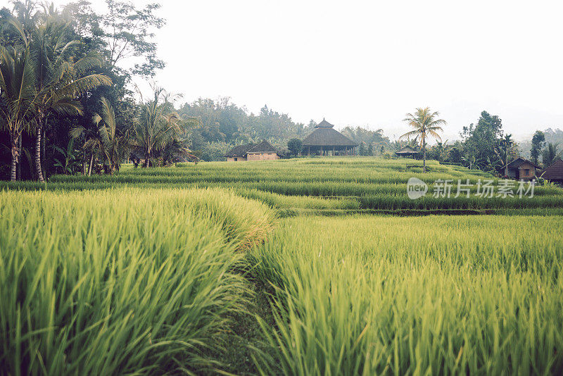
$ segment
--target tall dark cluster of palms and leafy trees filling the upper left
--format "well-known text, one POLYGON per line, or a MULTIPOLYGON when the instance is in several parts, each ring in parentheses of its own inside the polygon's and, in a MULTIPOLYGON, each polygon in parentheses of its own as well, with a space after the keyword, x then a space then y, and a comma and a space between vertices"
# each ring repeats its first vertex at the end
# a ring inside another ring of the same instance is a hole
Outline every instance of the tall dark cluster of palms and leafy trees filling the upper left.
POLYGON ((1 177, 110 173, 142 149, 131 120, 148 102, 135 101, 130 87, 135 75, 163 68, 150 39, 164 20, 153 14, 156 4, 106 4, 104 14, 87 1, 63 11, 32 0, 1 9, 1 177), (122 68, 131 56, 137 64, 122 68))

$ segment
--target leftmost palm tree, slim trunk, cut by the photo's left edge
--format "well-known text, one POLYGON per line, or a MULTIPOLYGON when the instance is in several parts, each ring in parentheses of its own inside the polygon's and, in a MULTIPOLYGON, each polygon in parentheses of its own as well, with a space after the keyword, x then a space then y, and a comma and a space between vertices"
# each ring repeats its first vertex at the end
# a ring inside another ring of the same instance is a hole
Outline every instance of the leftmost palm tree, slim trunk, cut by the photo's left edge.
POLYGON ((28 46, 0 46, 0 127, 6 128, 10 134, 11 181, 16 177, 21 134, 36 113, 35 82, 28 46))

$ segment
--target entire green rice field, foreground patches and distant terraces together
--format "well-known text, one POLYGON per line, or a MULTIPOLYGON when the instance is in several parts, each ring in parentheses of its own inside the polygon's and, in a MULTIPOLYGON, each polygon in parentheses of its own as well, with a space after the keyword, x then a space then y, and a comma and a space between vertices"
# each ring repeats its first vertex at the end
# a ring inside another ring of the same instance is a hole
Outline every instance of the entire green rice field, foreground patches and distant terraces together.
POLYGON ((561 374, 563 189, 409 199, 410 177, 500 184, 429 171, 303 158, 2 182, 0 374, 561 374))

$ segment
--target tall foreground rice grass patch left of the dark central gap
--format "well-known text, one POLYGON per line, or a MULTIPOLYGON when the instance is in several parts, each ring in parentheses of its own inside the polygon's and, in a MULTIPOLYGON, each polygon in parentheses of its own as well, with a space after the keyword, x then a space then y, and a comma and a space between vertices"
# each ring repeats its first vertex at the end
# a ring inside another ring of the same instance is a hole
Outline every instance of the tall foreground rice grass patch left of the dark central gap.
POLYGON ((220 189, 0 192, 0 373, 215 367, 273 213, 220 189))

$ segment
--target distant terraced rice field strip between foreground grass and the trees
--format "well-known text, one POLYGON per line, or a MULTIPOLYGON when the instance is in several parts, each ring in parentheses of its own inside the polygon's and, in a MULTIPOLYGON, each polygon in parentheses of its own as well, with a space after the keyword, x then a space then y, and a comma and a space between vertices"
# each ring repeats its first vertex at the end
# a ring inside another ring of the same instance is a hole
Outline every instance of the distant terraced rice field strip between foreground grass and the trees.
MULTIPOLYGON (((241 196, 260 199, 275 209, 315 209, 347 211, 398 210, 506 210, 563 208, 563 191, 554 186, 536 186, 533 197, 476 196, 477 184, 492 175, 460 166, 428 162, 429 173, 422 174, 420 161, 381 158, 300 158, 260 163, 181 164, 170 168, 124 168, 118 175, 58 175, 46 189, 108 189, 110 187, 219 187, 234 189, 241 196), (412 200, 407 196, 407 180, 417 177, 426 182, 426 196, 412 200), (436 181, 453 184, 451 196, 434 197, 436 181), (455 197, 457 182, 471 184, 470 195, 455 197)), ((6 183, 4 183, 4 187, 6 183)), ((0 187, 3 187, 0 185, 0 187)), ((20 183, 19 189, 45 189, 38 183, 20 183)))

